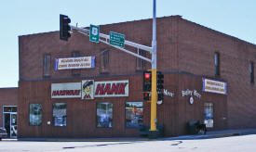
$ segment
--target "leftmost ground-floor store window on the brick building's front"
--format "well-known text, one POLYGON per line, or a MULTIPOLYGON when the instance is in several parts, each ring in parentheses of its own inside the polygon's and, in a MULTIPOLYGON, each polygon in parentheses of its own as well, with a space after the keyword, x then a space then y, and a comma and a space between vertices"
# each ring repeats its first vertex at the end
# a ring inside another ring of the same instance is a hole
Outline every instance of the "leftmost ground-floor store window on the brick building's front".
POLYGON ((30 104, 29 108, 29 124, 31 126, 40 126, 42 124, 42 104, 30 104))

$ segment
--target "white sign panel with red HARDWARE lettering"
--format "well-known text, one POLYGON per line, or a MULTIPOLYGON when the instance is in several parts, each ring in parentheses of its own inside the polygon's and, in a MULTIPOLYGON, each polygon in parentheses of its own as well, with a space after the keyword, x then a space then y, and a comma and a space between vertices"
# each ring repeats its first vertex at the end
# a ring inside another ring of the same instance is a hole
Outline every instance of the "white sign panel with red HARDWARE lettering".
POLYGON ((51 84, 51 98, 81 97, 81 82, 65 82, 51 84))

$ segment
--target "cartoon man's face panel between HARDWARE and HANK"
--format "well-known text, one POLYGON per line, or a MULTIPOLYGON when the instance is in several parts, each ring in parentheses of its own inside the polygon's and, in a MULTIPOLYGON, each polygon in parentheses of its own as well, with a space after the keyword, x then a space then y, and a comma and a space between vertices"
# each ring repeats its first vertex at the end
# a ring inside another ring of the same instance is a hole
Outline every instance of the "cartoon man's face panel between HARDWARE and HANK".
POLYGON ((84 80, 82 81, 82 99, 94 99, 94 81, 84 80))

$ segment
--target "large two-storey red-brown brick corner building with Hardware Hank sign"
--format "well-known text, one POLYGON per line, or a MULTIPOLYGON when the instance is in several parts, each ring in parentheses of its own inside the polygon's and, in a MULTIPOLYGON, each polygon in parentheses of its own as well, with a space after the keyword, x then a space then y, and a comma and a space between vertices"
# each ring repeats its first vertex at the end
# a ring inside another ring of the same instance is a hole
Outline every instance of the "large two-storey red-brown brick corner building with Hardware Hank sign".
MULTIPOLYGON (((151 46, 152 19, 100 29, 151 46)), ((59 36, 47 32, 19 37, 18 136, 138 136, 138 127, 150 123, 142 71, 151 65, 107 44, 91 43, 79 32, 74 31, 68 42, 59 36), (91 65, 57 70, 63 68, 60 63, 81 58, 91 65)), ((164 125, 165 135, 187 133, 190 120, 205 121, 209 130, 256 127, 255 44, 181 16, 157 19, 156 41, 157 70, 164 74, 157 124, 164 125)))

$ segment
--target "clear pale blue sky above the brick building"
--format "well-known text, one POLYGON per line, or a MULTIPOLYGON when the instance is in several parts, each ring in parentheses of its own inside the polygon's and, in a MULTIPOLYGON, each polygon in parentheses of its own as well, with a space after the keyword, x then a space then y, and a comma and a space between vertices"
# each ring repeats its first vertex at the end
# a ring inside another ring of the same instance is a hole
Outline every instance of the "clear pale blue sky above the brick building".
MULTIPOLYGON (((59 31, 60 14, 78 27, 151 19, 153 0, 1 0, 0 88, 18 86, 18 37, 59 31)), ((172 15, 256 44, 256 0, 156 0, 157 18, 172 15)))

